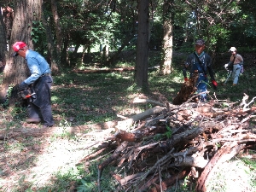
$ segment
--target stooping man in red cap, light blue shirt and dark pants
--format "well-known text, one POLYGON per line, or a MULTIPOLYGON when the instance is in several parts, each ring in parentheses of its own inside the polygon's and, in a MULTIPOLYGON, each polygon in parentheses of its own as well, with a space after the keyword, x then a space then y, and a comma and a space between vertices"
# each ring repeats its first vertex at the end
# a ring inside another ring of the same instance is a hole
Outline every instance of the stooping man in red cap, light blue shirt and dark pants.
POLYGON ((20 85, 19 90, 25 90, 29 86, 36 93, 36 98, 28 105, 27 123, 39 123, 43 119, 44 127, 54 125, 54 119, 50 103, 50 87, 53 79, 50 75, 50 68, 44 57, 38 52, 28 49, 24 42, 13 44, 14 56, 20 55, 26 59, 27 67, 31 76, 25 79, 20 85))

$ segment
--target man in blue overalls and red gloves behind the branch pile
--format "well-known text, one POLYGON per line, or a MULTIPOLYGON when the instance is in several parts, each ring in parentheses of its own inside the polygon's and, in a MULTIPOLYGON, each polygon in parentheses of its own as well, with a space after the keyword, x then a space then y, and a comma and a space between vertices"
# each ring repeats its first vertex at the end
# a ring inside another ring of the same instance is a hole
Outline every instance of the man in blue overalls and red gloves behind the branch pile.
POLYGON ((212 70, 212 59, 210 55, 204 52, 206 45, 205 41, 201 38, 195 41, 195 52, 190 54, 183 67, 183 77, 187 81, 187 71, 189 70, 189 77, 191 78, 193 73, 198 72, 198 80, 196 83, 197 93, 202 93, 199 96, 201 102, 207 102, 207 72, 210 74, 213 89, 217 89, 217 82, 214 79, 214 73, 212 70))

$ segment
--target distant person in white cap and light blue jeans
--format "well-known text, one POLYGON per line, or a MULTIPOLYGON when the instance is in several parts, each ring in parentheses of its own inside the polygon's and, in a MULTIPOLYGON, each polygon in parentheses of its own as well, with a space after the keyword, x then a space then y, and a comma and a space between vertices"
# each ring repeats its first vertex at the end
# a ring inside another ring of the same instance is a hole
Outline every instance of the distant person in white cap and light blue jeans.
POLYGON ((231 52, 230 62, 228 64, 225 64, 225 67, 232 69, 233 85, 236 85, 238 83, 238 78, 241 73, 243 59, 241 55, 237 54, 236 47, 231 47, 230 52, 231 52))

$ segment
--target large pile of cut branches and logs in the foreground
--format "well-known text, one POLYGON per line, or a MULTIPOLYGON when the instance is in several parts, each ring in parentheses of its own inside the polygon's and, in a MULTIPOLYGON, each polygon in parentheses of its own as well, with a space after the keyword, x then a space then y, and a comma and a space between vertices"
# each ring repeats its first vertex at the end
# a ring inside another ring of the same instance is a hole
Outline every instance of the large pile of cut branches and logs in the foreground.
POLYGON ((219 164, 255 147, 249 124, 255 116, 253 100, 248 102, 245 95, 241 103, 188 101, 177 106, 137 99, 156 107, 119 121, 115 134, 84 158, 91 160, 106 148, 112 151, 98 166, 98 191, 107 166, 117 167, 111 172, 119 183, 116 191, 164 191, 184 177, 191 188, 207 191, 219 164))

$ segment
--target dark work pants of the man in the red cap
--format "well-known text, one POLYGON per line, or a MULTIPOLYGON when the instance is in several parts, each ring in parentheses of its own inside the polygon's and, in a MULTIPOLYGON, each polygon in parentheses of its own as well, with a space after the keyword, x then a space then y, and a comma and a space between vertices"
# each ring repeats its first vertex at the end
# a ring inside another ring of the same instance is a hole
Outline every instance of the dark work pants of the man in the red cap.
POLYGON ((44 125, 54 125, 50 102, 50 87, 53 83, 51 76, 39 78, 33 85, 36 92, 36 99, 32 100, 28 106, 29 118, 40 118, 44 120, 44 125))

